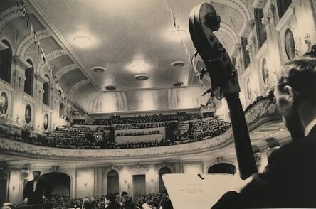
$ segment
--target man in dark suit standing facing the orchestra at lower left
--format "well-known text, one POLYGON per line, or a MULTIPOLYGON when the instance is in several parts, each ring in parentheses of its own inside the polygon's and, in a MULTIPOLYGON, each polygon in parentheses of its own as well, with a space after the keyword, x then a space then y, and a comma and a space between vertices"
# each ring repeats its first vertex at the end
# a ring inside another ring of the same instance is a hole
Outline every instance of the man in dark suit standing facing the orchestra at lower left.
POLYGON ((43 199, 46 199, 53 189, 41 178, 41 171, 33 171, 33 180, 28 181, 23 190, 24 205, 40 205, 43 199))

